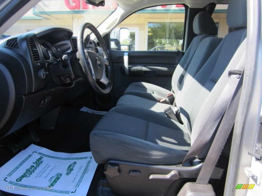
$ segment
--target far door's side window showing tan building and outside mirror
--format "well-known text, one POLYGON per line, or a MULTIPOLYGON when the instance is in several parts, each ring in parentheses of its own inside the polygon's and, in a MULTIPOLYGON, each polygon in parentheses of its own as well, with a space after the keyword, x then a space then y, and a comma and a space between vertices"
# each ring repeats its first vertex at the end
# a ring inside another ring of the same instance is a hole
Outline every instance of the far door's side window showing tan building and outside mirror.
POLYGON ((161 5, 130 15, 110 34, 112 50, 182 50, 185 8, 161 5), (129 34, 123 28, 129 29, 129 34))

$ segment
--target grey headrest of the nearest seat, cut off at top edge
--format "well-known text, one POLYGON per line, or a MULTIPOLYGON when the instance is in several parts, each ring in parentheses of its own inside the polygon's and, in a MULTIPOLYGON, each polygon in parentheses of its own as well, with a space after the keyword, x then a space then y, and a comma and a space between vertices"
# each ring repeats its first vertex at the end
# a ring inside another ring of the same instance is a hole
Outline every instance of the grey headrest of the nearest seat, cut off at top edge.
POLYGON ((247 28, 247 0, 230 0, 227 25, 233 29, 247 28))

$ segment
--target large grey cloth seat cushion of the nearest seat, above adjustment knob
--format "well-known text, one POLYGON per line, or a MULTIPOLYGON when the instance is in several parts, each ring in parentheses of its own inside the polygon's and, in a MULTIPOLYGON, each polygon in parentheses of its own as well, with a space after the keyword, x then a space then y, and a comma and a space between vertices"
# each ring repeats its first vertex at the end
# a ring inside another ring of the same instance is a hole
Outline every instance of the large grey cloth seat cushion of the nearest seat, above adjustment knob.
POLYGON ((185 126, 148 109, 117 106, 90 134, 97 163, 118 159, 146 164, 180 164, 190 148, 185 126))

